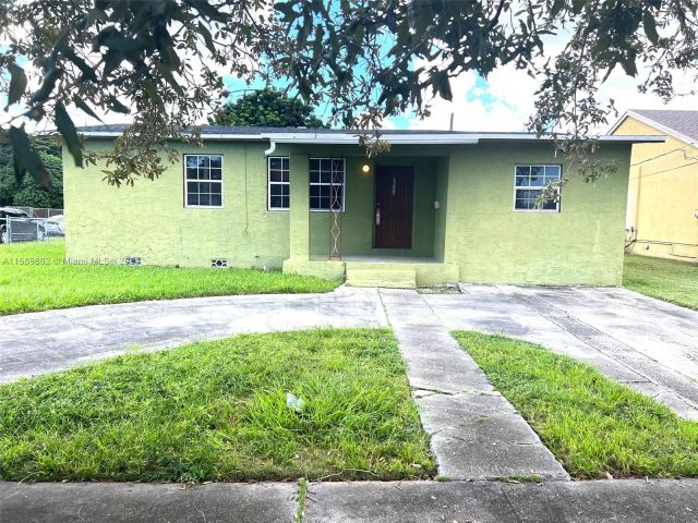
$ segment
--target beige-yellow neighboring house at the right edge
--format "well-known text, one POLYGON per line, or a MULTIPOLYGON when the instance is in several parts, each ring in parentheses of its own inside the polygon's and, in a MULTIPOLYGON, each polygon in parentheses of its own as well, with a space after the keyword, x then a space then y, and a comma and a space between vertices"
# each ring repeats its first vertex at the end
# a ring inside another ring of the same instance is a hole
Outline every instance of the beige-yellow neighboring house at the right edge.
POLYGON ((633 145, 627 251, 698 262, 698 111, 627 111, 609 134, 666 135, 633 145))

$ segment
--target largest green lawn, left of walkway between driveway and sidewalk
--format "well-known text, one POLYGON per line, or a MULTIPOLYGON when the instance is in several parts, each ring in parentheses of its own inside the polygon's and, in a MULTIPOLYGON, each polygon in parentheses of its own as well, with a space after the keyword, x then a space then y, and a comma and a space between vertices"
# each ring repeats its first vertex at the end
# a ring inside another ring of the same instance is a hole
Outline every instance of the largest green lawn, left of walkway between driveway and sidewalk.
POLYGON ((0 479, 434 473, 385 329, 239 336, 0 386, 0 479), (304 401, 300 413, 287 392, 304 401))

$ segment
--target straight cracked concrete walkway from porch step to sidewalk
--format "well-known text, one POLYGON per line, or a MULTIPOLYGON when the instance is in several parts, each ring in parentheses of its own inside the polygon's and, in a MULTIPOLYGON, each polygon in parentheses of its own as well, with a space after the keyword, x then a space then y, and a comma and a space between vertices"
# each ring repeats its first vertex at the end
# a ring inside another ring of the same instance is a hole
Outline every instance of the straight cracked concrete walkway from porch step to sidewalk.
POLYGON ((569 476, 414 291, 381 290, 438 474, 569 476))

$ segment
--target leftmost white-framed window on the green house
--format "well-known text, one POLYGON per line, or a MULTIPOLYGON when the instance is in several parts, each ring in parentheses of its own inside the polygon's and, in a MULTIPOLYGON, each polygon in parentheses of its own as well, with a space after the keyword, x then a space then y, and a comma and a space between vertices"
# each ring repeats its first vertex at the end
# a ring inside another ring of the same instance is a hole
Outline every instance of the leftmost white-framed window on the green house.
POLYGON ((222 207, 222 155, 184 155, 184 207, 222 207))

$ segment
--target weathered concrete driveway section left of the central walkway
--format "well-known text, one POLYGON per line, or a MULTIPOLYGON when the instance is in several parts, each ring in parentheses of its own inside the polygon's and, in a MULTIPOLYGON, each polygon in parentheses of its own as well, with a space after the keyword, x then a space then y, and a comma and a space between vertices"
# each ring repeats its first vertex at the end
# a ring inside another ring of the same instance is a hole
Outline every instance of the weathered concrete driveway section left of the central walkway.
POLYGON ((122 354, 313 327, 385 327, 375 289, 327 294, 196 297, 0 317, 0 381, 122 354))

